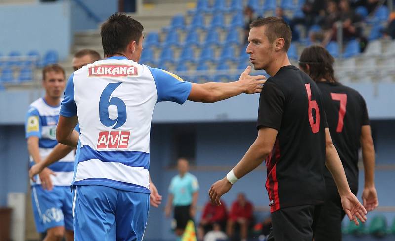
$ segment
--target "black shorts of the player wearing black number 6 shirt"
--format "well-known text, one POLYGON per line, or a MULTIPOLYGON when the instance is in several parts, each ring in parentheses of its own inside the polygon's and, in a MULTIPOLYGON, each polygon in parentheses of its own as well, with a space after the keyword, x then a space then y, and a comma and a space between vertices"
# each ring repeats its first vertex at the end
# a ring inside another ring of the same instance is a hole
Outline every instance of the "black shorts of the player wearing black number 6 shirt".
POLYGON ((282 208, 272 213, 268 241, 312 241, 321 205, 282 208))

